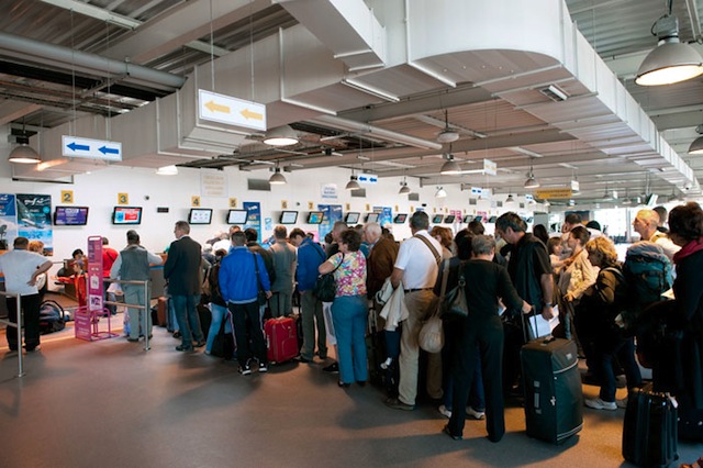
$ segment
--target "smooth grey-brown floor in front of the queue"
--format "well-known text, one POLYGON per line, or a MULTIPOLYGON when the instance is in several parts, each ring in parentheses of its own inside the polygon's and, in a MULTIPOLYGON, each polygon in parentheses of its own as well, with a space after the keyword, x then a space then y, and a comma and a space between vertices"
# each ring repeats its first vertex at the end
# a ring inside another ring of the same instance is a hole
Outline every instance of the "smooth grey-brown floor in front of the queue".
MULTIPOLYGON (((623 410, 584 410, 584 430, 561 446, 528 438, 518 406, 506 410, 501 443, 481 421, 455 442, 434 405, 389 410, 373 387, 339 389, 321 361, 242 377, 234 363, 175 352, 165 328, 149 352, 71 332, 44 336, 22 378, 16 357, 0 360, 0 467, 628 466, 623 410)), ((3 336, 0 345, 1 356, 3 336)), ((701 455, 703 444, 680 444, 674 466, 701 455)))

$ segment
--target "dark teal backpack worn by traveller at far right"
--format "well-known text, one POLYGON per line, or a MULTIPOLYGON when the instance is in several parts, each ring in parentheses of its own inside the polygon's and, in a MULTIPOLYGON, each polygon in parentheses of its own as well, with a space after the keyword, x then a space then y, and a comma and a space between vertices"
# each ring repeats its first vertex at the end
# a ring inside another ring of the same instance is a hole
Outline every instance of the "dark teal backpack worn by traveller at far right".
POLYGON ((623 275, 629 301, 624 322, 629 328, 647 305, 660 301, 661 294, 671 288, 671 261, 654 242, 637 242, 627 249, 623 275))

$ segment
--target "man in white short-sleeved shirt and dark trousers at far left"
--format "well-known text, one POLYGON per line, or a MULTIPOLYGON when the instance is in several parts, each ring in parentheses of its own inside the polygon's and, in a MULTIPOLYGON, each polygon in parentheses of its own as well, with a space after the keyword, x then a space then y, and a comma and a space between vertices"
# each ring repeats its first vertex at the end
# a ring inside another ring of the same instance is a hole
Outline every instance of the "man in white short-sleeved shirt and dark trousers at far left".
MULTIPOLYGON (((45 257, 29 252, 30 241, 26 237, 15 237, 14 249, 0 256, 0 274, 4 275, 4 289, 11 294, 21 297, 24 312, 24 348, 27 353, 40 349, 40 305, 41 298, 36 288, 36 278, 46 272, 52 263, 45 257)), ((16 299, 7 297, 10 322, 16 323, 16 299)), ((18 328, 8 326, 8 345, 10 353, 16 353, 18 328)))

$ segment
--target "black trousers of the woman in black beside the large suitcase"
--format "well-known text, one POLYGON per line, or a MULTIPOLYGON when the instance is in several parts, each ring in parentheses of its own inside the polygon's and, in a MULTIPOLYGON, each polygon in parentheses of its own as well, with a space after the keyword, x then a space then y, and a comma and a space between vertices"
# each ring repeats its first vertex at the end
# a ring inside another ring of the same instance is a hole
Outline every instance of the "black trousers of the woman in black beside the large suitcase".
POLYGON ((466 402, 473 379, 475 366, 481 354, 483 388, 486 390, 486 428, 488 437, 500 441, 505 434, 505 415, 503 404, 503 324, 495 315, 482 320, 470 321, 465 333, 459 337, 458 358, 453 367, 454 401, 449 430, 451 434, 464 435, 466 423, 466 402), (478 346, 477 346, 478 344, 478 346))

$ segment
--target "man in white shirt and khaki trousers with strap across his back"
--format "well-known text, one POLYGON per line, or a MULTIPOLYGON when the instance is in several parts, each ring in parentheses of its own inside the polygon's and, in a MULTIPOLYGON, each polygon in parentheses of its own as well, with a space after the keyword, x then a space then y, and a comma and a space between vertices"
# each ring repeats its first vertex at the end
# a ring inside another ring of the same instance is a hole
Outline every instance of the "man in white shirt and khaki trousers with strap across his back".
MULTIPOLYGON (((422 320, 435 300, 432 289, 437 281, 442 246, 427 233, 427 227, 429 227, 427 213, 423 211, 413 213, 410 218, 410 230, 413 236, 400 245, 391 275, 393 288, 405 289, 405 305, 409 312, 408 319, 401 323, 398 398, 386 400, 386 405, 394 410, 414 410, 415 408, 420 358, 417 335, 422 327, 422 320)), ((440 376, 440 366, 439 359, 431 359, 427 363, 427 390, 431 398, 442 398, 440 381, 436 382, 436 376, 440 376), (437 383, 438 389, 434 388, 437 383), (435 394, 432 394, 433 392, 435 394)), ((439 380, 442 380, 440 377, 439 380)))

